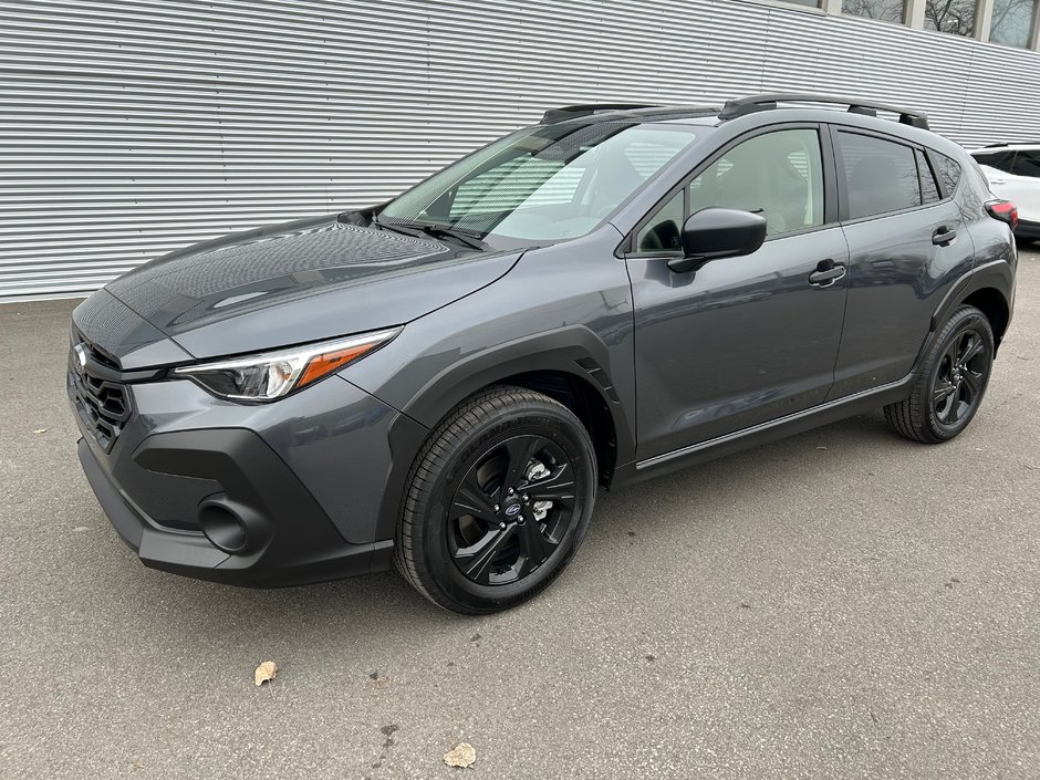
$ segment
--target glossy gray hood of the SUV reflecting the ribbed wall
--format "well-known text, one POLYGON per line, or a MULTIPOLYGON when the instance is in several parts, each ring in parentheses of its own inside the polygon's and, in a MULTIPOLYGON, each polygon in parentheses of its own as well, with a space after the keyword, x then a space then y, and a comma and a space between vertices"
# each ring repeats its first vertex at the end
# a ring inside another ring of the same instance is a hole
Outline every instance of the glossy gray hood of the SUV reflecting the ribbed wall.
MULTIPOLYGON (((115 344, 94 316, 94 334, 124 365, 148 345, 149 327, 198 358, 331 339, 423 316, 490 284, 520 257, 449 245, 335 216, 233 233, 106 285, 102 292, 129 310, 124 316, 143 322, 131 342, 115 344)), ((95 294, 94 309, 114 316, 115 302, 95 294)))

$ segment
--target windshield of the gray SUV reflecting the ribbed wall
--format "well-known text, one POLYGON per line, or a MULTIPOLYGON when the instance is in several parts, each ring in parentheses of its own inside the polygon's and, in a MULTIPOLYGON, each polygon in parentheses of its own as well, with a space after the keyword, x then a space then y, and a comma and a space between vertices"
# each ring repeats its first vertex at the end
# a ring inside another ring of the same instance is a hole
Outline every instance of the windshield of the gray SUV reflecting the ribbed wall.
POLYGON ((520 131, 392 201, 386 225, 522 240, 590 232, 695 139, 684 125, 571 123, 520 131))

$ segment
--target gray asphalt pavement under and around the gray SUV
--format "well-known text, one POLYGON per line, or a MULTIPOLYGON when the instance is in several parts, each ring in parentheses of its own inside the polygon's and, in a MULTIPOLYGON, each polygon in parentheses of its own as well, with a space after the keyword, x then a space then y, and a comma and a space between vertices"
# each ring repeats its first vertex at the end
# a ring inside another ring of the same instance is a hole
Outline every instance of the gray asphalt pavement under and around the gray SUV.
POLYGON ((604 496, 480 620, 141 566, 75 459, 71 308, 0 306, 7 780, 1040 777, 1040 254, 956 441, 871 415, 604 496))

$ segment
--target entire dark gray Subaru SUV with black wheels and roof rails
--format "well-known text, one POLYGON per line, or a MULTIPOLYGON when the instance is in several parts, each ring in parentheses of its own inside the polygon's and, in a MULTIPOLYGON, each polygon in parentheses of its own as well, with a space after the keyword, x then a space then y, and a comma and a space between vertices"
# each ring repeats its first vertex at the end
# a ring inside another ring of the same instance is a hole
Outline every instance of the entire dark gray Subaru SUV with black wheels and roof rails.
POLYGON ((502 610, 560 574, 601 488, 880 406, 917 441, 964 430, 1015 220, 906 108, 549 111, 387 204, 94 293, 80 460, 146 565, 279 585, 393 562, 443 607, 502 610))

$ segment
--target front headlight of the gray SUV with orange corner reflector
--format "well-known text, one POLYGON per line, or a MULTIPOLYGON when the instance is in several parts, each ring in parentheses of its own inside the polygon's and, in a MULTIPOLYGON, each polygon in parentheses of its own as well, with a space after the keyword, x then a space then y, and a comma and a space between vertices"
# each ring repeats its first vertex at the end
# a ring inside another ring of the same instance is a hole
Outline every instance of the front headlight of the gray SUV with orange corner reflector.
POLYGON ((180 366, 175 376, 194 379, 231 401, 274 401, 367 355, 401 333, 393 327, 349 339, 293 346, 278 352, 180 366))

